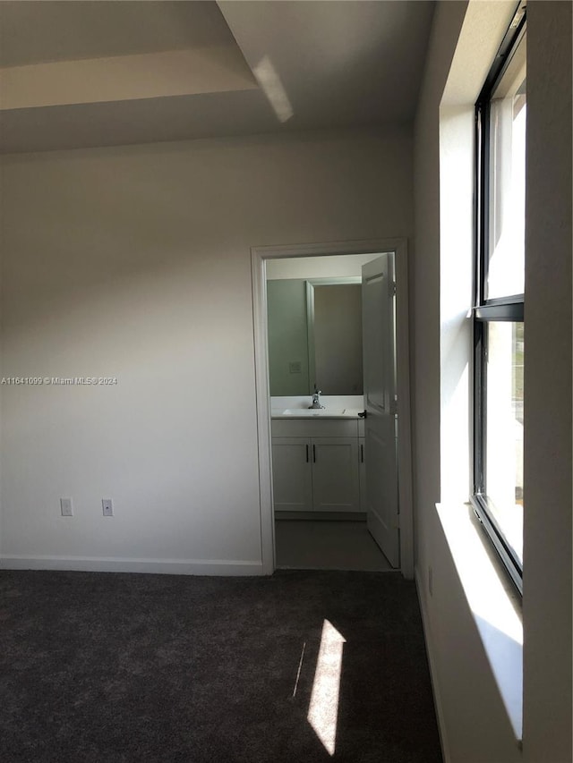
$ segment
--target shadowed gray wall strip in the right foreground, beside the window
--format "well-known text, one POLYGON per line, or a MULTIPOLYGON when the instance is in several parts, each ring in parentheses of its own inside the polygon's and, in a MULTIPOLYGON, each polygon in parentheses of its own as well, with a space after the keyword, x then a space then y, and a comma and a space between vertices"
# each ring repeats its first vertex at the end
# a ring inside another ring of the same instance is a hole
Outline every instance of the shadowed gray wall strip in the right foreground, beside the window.
POLYGON ((571 10, 527 5, 524 752, 571 760, 571 10))

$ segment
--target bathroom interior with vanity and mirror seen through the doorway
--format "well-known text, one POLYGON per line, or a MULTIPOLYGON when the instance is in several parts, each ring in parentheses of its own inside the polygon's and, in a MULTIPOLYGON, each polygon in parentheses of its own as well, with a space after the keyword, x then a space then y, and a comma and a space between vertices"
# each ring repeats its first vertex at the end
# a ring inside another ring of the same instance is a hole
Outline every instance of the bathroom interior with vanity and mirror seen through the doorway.
POLYGON ((363 266, 380 257, 266 264, 278 568, 399 567, 382 553, 366 510, 362 282, 363 266))

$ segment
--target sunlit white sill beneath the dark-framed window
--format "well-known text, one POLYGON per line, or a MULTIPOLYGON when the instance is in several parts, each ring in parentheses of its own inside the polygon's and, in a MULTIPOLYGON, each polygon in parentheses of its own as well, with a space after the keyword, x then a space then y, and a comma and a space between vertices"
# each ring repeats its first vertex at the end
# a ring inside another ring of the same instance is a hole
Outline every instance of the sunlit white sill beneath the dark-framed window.
POLYGON ((459 581, 517 742, 522 739, 521 600, 469 504, 436 504, 459 581))

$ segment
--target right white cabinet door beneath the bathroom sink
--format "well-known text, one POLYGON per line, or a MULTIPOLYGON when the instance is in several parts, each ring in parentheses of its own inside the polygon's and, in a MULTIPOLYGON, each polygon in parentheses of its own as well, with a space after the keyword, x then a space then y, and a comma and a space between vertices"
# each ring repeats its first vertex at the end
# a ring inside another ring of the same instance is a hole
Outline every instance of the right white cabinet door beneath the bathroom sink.
POLYGON ((358 512, 358 439, 312 437, 312 498, 315 512, 358 512))

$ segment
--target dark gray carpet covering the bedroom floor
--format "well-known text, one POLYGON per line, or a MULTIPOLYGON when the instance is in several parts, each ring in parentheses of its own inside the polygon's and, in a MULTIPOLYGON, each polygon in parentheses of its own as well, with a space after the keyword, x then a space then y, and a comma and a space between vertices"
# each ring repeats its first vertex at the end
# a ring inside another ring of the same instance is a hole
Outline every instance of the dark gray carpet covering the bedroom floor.
POLYGON ((398 573, 0 572, 0 670, 3 763, 441 761, 398 573), (325 618, 346 639, 333 756, 307 720, 325 618))

